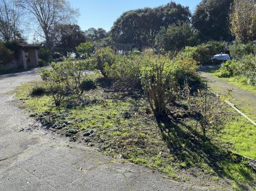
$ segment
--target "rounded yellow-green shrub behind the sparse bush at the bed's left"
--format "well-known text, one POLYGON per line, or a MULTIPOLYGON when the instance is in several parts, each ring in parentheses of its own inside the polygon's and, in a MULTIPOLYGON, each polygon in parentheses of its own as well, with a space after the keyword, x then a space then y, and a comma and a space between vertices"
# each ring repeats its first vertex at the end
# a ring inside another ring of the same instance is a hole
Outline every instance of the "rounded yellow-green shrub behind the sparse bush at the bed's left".
POLYGON ((112 66, 116 62, 116 55, 110 47, 101 48, 92 54, 91 58, 88 59, 88 64, 91 69, 97 69, 101 71, 104 77, 107 77, 105 71, 106 66, 112 66))

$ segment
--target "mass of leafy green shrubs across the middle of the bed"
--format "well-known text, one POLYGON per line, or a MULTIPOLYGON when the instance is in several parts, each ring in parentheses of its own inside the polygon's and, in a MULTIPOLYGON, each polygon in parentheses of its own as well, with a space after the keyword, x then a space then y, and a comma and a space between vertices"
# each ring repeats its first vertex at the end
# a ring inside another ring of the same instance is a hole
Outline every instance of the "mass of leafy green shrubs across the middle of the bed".
POLYGON ((95 81, 88 79, 86 72, 92 69, 100 70, 105 78, 113 80, 108 87, 111 91, 144 91, 152 110, 160 115, 166 105, 175 100, 179 87, 198 82, 197 68, 197 62, 188 56, 175 59, 170 59, 168 54, 118 56, 107 47, 86 60, 68 57, 64 62, 53 64, 53 69, 44 69, 40 75, 56 106, 67 99, 80 99, 84 91, 96 88, 95 81))

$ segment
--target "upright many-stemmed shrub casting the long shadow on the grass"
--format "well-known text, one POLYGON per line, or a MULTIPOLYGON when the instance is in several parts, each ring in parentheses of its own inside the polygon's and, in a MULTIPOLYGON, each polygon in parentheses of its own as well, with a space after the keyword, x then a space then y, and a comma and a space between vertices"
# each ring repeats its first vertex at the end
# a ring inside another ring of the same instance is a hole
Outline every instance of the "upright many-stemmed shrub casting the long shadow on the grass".
POLYGON ((175 100, 176 81, 171 73, 170 63, 160 59, 160 63, 153 61, 144 73, 145 93, 149 105, 155 116, 162 116, 166 112, 166 105, 175 100))

